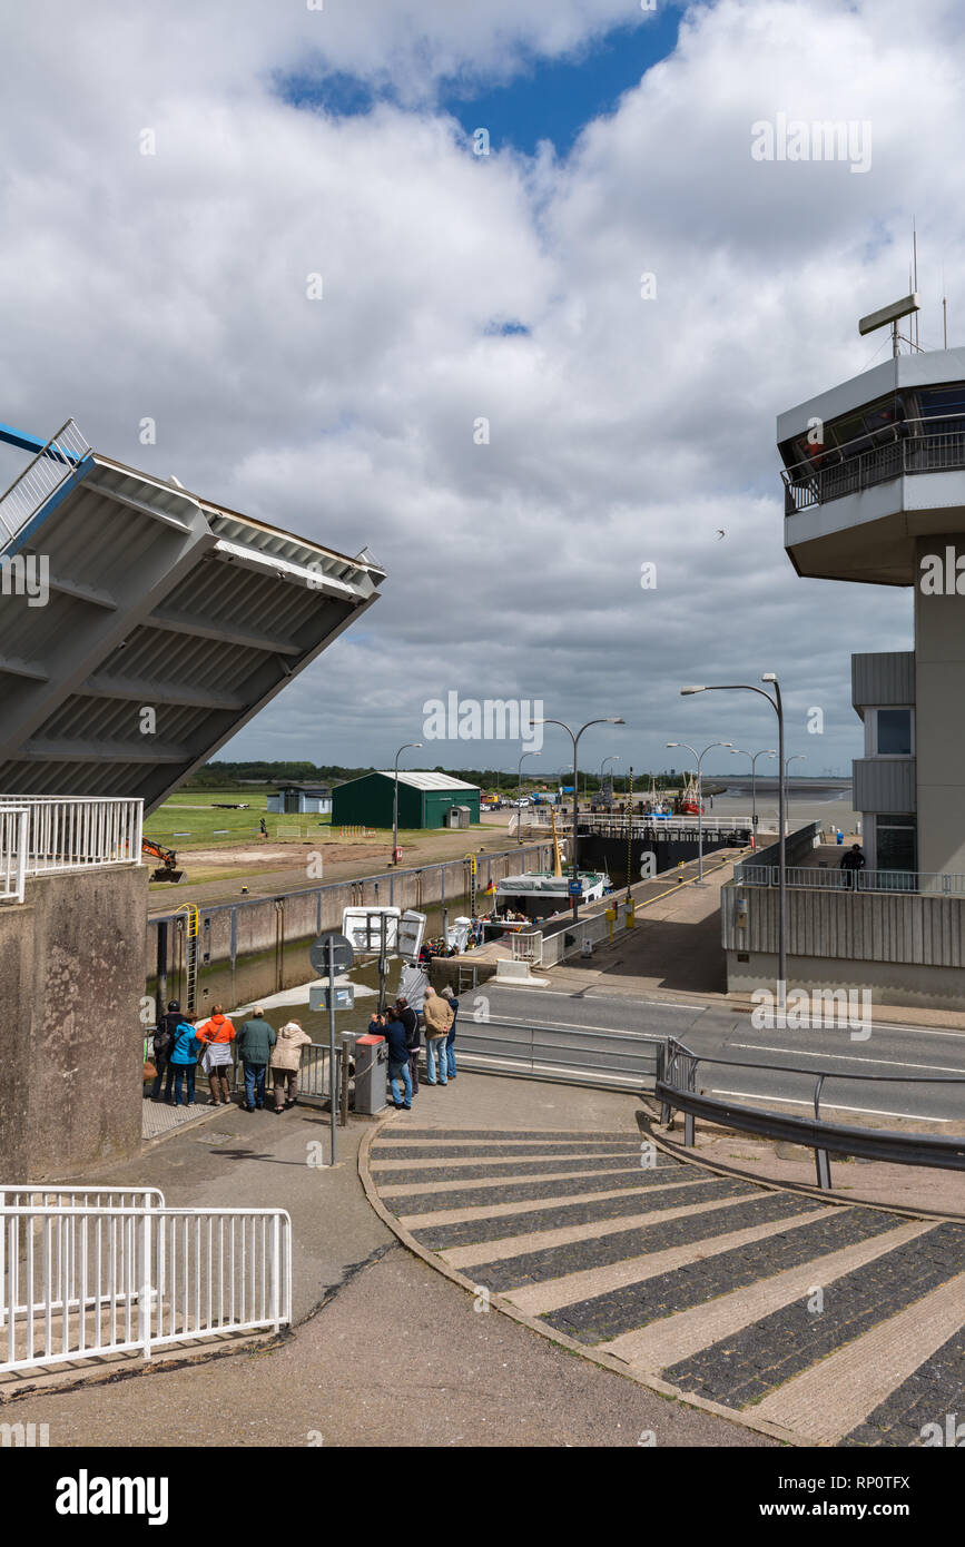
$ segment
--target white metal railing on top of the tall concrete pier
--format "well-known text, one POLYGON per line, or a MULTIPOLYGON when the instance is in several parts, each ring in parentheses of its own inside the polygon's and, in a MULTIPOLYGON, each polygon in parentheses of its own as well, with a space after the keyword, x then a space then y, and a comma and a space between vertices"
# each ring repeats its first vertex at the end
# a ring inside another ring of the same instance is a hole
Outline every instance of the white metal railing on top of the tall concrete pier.
POLYGON ((26 876, 139 865, 144 801, 0 795, 0 900, 23 902, 26 876))

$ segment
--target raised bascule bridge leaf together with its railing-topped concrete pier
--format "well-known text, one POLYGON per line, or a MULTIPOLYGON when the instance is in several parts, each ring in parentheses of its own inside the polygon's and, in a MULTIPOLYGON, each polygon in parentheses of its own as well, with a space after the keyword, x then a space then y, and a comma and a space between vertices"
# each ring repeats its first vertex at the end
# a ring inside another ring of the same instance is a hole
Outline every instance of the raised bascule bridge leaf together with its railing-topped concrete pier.
POLYGON ((385 572, 94 452, 74 421, 0 441, 29 453, 0 497, 2 1180, 139 1148, 142 817, 385 572))

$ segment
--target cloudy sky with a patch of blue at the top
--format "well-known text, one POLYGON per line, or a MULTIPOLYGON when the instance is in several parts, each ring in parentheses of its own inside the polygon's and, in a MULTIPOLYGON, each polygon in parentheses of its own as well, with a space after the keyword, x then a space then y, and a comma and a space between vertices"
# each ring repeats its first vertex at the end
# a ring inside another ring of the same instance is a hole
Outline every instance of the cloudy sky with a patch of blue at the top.
POLYGON ((34 0, 5 20, 0 419, 73 415, 385 566, 221 756, 391 766, 456 693, 622 716, 586 766, 667 767, 773 746, 761 699, 679 688, 776 671, 795 772, 849 772, 851 651, 911 648, 911 597, 793 572, 775 418, 886 356, 857 319, 906 292, 912 220, 922 342, 943 286, 962 342, 963 32, 957 0, 34 0), (755 159, 779 113, 869 124, 869 169, 755 159))

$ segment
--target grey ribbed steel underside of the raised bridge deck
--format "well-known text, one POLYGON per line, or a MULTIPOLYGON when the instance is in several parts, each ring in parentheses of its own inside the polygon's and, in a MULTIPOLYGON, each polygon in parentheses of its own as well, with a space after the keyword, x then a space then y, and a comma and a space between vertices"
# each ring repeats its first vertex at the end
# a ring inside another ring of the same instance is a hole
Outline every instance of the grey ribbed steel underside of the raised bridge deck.
POLYGON ((46 605, 5 596, 0 608, 0 791, 141 795, 145 811, 371 606, 385 577, 94 452, 0 552, 49 563, 46 605))

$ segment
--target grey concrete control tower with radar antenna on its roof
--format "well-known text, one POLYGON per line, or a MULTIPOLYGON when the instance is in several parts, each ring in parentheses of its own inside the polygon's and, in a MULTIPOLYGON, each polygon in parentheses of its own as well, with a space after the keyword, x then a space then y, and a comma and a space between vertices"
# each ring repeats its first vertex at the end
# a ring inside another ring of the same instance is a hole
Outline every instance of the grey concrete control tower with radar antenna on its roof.
POLYGON ((783 413, 778 447, 798 574, 914 591, 914 650, 852 656, 854 804, 868 869, 928 893, 965 874, 965 350, 900 354, 917 306, 864 319, 894 357, 783 413))

